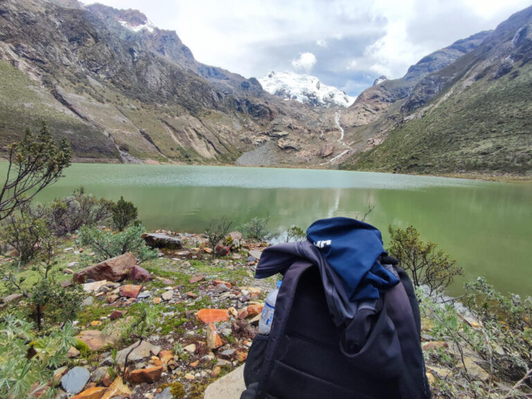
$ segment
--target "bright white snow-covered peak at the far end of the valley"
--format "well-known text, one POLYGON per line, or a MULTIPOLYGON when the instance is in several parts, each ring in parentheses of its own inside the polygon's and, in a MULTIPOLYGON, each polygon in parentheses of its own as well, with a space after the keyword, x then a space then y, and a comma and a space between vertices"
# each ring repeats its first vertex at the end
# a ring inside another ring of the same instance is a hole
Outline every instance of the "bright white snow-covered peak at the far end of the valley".
POLYGON ((312 106, 349 107, 355 101, 344 91, 323 85, 316 76, 272 71, 258 81, 269 94, 312 106))

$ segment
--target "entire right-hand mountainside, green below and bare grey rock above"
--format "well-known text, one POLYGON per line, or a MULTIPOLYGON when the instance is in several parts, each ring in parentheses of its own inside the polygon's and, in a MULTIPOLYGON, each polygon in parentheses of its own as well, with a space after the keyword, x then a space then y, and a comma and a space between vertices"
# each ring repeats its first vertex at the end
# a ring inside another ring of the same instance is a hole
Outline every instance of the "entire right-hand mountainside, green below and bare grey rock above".
MULTIPOLYGON (((351 138, 358 135, 361 148, 366 148, 342 167, 531 175, 532 7, 481 35, 479 46, 422 76, 404 98, 374 108, 382 116, 372 122, 369 113, 369 125, 351 130, 351 138), (363 138, 372 129, 380 130, 380 140, 386 139, 361 154, 371 147, 363 138)), ((397 87, 395 92, 400 92, 397 87)), ((364 98, 367 94, 351 109, 361 109, 364 98)), ((363 119, 359 114, 351 121, 363 119)))

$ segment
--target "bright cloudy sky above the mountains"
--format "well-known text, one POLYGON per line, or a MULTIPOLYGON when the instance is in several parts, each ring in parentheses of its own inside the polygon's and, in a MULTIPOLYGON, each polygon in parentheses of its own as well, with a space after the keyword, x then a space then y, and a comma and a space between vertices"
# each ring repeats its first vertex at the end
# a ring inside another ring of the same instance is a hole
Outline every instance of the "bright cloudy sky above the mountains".
MULTIPOLYGON (((93 1, 84 0, 85 3, 93 1)), ((421 57, 493 29, 530 0, 98 0, 177 32, 204 64, 249 78, 317 76, 356 96, 421 57)))

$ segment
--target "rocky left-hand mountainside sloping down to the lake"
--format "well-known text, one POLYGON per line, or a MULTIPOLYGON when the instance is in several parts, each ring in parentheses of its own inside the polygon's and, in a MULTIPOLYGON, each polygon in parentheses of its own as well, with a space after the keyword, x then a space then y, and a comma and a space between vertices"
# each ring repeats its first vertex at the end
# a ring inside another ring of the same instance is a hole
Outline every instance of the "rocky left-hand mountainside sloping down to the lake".
POLYGON ((279 162, 301 163, 319 159, 334 126, 332 112, 197 62, 139 11, 5 0, 0 144, 39 119, 71 140, 76 159, 116 162, 231 163, 272 141, 279 162))

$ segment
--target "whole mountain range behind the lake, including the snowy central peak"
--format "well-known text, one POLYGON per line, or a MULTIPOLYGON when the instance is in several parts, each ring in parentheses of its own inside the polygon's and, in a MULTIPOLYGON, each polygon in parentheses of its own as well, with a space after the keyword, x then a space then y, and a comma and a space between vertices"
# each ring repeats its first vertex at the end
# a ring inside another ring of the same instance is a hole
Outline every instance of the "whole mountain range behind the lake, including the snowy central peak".
POLYGON ((532 7, 353 103, 313 76, 197 62, 138 10, 3 0, 0 145, 44 119, 78 161, 531 175, 531 59, 532 7))

